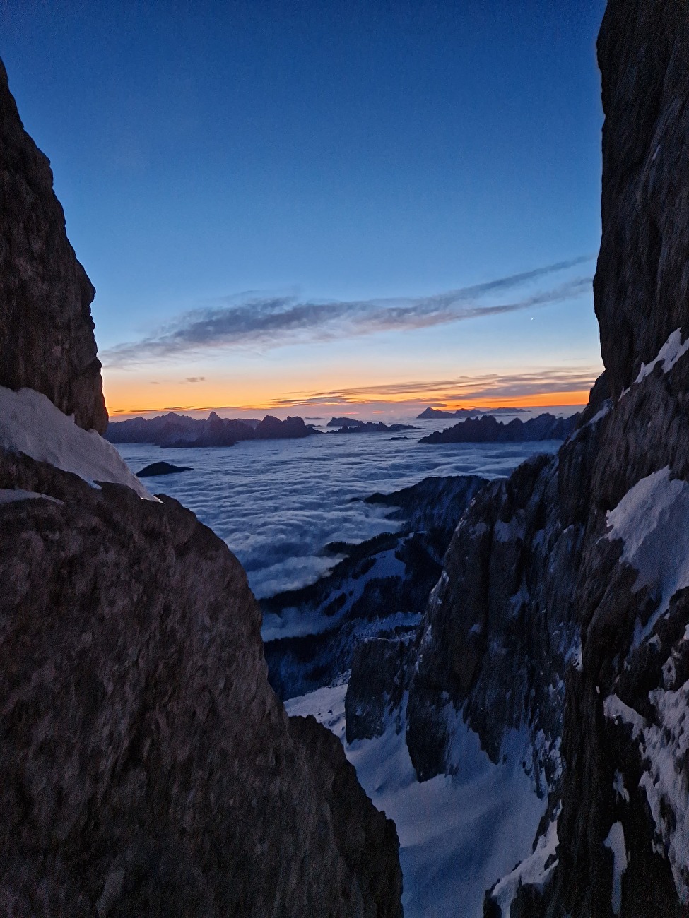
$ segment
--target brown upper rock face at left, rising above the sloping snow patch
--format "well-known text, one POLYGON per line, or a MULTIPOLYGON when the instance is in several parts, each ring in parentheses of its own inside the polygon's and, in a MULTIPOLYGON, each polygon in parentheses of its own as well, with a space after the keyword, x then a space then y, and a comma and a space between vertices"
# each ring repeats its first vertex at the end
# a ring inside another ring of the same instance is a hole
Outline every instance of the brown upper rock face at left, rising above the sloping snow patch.
POLYGON ((50 162, 31 140, 0 62, 0 386, 37 389, 80 427, 107 427, 90 305, 50 162))

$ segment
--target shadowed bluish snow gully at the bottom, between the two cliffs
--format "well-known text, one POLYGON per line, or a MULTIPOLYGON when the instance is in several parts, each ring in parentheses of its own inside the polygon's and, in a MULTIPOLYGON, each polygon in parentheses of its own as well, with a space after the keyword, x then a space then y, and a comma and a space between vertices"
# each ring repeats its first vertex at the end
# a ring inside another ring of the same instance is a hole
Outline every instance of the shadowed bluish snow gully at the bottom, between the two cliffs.
MULTIPOLYGON (((288 714, 313 714, 344 738, 345 690, 288 700, 288 714)), ((461 754, 457 775, 423 783, 393 724, 382 736, 344 746, 367 794, 397 826, 406 918, 481 918, 485 891, 528 854, 543 815, 521 757, 493 765, 460 718, 453 746, 461 754)))

